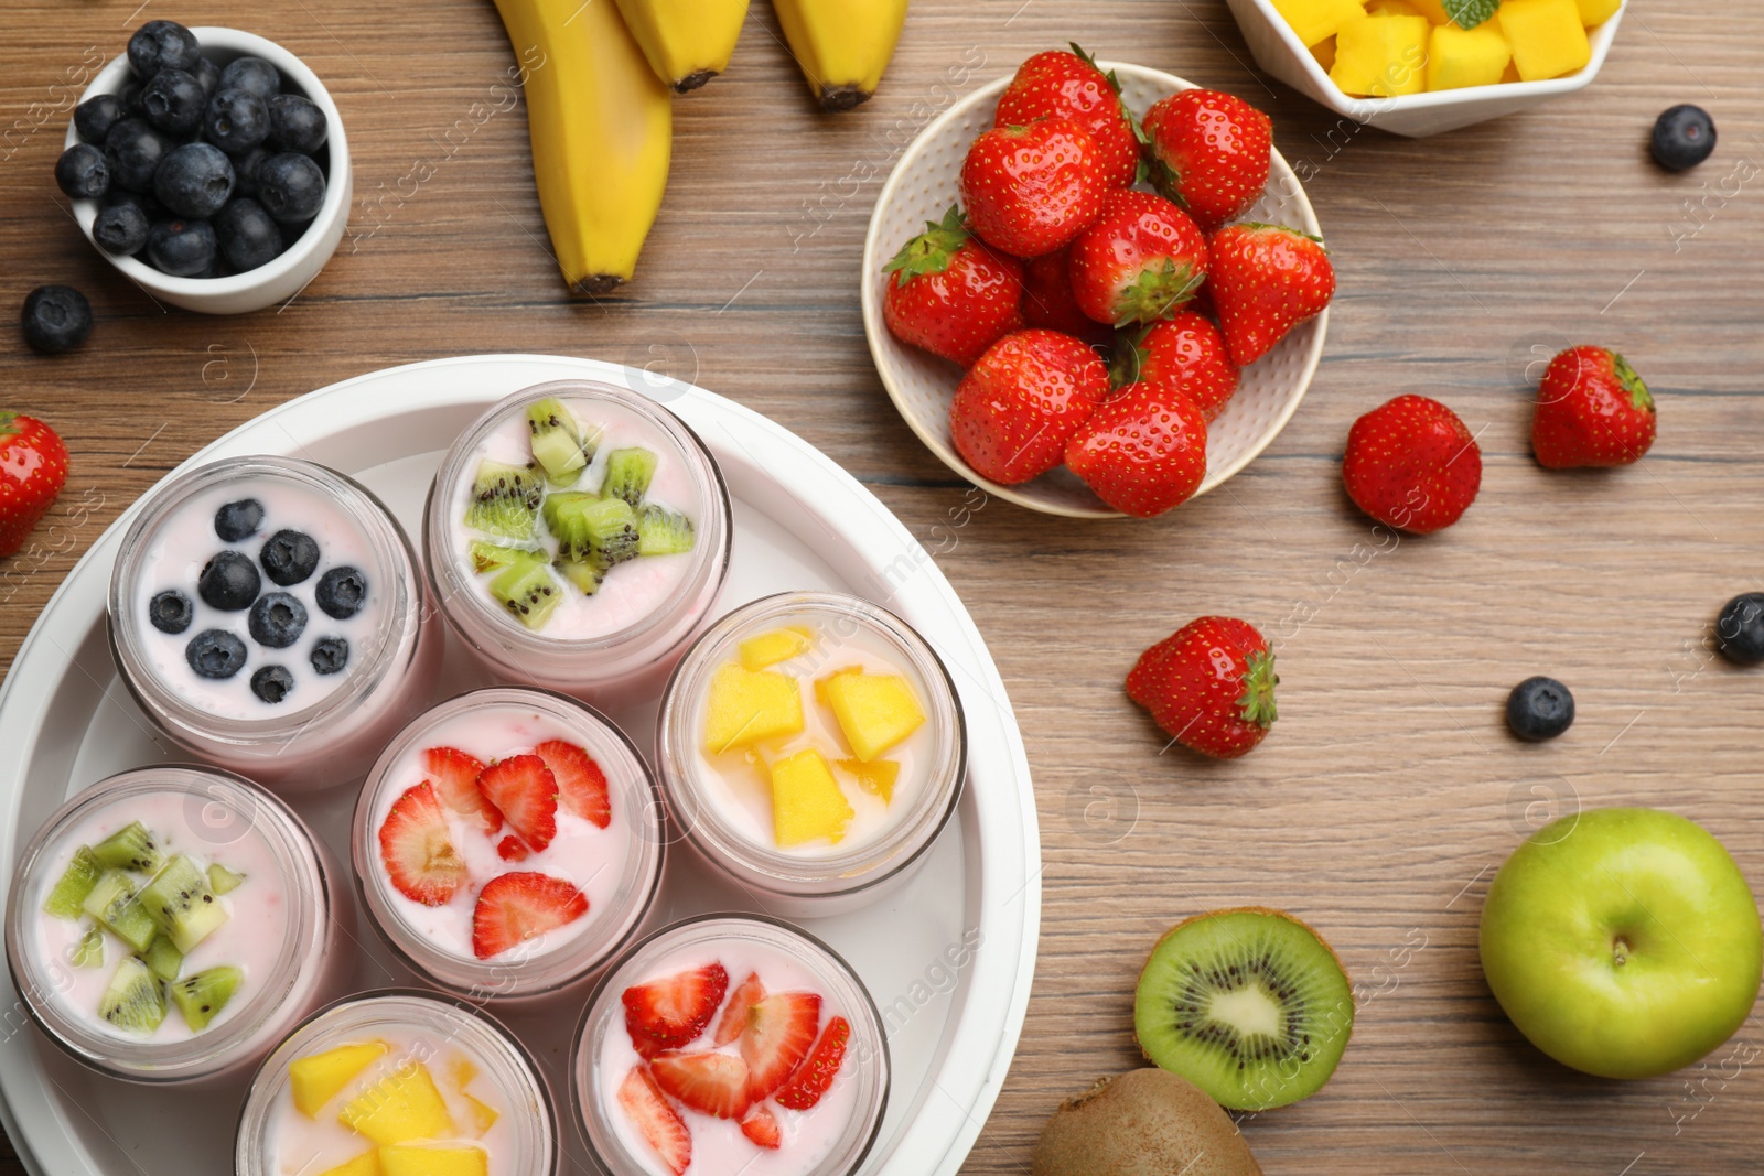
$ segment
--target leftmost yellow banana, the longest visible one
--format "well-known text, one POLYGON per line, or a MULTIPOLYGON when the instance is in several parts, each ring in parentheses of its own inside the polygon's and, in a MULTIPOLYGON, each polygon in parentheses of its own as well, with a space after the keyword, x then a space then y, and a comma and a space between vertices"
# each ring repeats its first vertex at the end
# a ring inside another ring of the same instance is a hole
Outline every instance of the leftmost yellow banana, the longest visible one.
POLYGON ((632 277, 667 187, 674 111, 614 0, 496 0, 527 93, 540 208, 570 287, 632 277))

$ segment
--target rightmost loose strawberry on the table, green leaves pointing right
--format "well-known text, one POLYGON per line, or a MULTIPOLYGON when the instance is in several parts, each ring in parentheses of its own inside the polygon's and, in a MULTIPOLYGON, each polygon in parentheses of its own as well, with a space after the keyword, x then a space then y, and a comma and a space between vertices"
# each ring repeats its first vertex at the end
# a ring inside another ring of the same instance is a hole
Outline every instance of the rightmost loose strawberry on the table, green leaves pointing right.
POLYGON ((1549 361, 1531 418, 1531 451, 1545 469, 1628 465, 1655 439, 1648 384, 1616 351, 1570 347, 1549 361))

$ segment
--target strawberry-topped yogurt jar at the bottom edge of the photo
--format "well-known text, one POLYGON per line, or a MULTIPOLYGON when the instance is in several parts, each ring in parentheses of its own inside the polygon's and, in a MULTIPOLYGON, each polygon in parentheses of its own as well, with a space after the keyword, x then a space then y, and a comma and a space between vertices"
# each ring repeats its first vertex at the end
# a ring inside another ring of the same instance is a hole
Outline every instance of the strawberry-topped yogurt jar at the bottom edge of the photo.
POLYGON ((700 915, 626 952, 589 1001, 570 1104, 612 1176, 847 1176, 887 1107, 887 1035, 833 949, 700 915))

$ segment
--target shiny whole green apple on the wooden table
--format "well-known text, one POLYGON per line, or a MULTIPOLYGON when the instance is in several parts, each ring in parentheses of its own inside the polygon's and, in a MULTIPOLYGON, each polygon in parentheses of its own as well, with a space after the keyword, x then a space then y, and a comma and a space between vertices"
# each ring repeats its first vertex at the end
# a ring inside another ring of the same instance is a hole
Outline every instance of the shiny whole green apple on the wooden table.
POLYGON ((1482 971, 1531 1044, 1602 1077, 1704 1056, 1752 1012, 1759 908, 1700 825, 1591 809, 1538 829, 1482 908, 1482 971))

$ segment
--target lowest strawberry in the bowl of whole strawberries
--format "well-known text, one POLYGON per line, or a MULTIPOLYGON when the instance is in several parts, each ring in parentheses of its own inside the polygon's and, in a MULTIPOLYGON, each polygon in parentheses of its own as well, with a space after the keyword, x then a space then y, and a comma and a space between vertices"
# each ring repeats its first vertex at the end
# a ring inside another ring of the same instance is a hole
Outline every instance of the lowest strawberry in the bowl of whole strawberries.
POLYGON ((1065 464, 1115 510, 1162 515, 1207 478, 1207 416, 1180 391, 1129 384, 1073 434, 1065 464))

